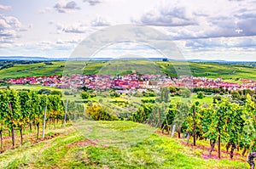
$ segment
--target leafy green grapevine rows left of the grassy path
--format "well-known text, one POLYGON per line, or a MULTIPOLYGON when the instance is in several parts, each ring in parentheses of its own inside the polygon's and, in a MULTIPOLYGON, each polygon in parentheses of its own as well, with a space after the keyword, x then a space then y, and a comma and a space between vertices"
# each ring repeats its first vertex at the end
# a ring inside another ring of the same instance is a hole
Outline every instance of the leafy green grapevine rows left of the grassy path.
POLYGON ((9 132, 12 147, 15 148, 15 130, 20 131, 20 145, 23 144, 23 133, 37 127, 37 138, 40 138, 40 127, 43 127, 42 138, 46 124, 55 126, 63 121, 64 109, 60 95, 44 95, 36 92, 0 90, 0 139, 3 151, 3 133, 9 132), (47 113, 47 114, 46 114, 47 113))

